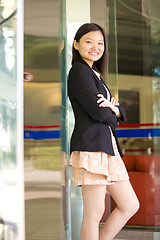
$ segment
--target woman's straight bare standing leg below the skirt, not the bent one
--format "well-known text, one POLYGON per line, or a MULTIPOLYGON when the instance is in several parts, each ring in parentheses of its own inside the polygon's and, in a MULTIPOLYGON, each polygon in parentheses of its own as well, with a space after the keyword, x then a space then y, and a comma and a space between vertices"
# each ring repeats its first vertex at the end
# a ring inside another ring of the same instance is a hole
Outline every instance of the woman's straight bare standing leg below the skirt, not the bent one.
POLYGON ((106 186, 82 186, 81 240, 99 240, 99 222, 105 206, 106 186))

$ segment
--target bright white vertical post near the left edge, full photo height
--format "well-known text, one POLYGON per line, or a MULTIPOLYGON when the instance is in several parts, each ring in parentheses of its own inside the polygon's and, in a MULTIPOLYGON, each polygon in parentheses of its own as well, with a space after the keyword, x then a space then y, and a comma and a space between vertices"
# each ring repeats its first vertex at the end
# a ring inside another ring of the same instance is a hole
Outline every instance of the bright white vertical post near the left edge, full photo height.
POLYGON ((17 187, 19 189, 20 211, 18 222, 18 239, 25 239, 25 221, 24 221, 24 123, 23 123, 23 73, 24 73, 24 1, 17 0, 17 169, 18 177, 17 187))

